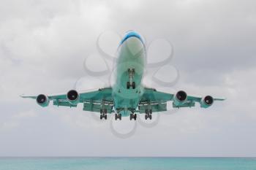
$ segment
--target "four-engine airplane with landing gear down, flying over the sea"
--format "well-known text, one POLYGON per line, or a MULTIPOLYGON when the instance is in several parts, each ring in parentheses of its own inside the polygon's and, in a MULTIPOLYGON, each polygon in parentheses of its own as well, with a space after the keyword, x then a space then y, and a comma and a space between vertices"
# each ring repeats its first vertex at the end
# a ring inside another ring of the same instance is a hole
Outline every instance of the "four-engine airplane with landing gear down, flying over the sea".
POLYGON ((129 31, 118 46, 116 77, 112 87, 80 92, 69 90, 59 95, 21 97, 33 98, 41 107, 48 107, 50 101, 58 107, 77 107, 82 103, 84 111, 98 112, 101 120, 107 120, 107 115, 112 113, 115 113, 115 120, 121 120, 121 117, 136 120, 137 113, 145 114, 145 119, 151 120, 152 113, 167 111, 169 101, 173 101, 173 108, 195 107, 196 102, 200 107, 208 108, 214 101, 225 100, 212 96, 188 96, 184 90, 165 93, 155 88, 147 88, 142 83, 145 67, 146 47, 142 36, 135 31, 129 31))

